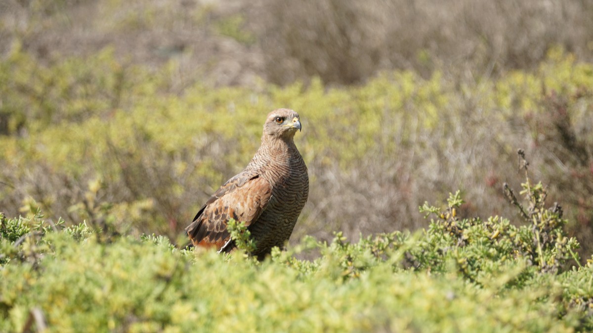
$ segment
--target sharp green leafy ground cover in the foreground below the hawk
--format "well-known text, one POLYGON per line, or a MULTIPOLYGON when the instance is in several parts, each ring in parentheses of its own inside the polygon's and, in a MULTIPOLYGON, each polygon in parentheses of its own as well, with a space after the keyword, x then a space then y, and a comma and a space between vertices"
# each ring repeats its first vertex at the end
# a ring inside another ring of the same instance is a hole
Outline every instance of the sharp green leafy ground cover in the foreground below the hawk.
MULTIPOLYGON (((562 208, 527 178, 527 223, 460 219, 459 193, 425 203, 426 229, 348 242, 305 238, 258 262, 107 235, 37 214, 2 216, 0 330, 572 332, 593 329, 593 261, 562 208), (317 252, 310 260, 298 255, 317 252), (297 255, 297 257, 295 257, 297 255)), ((233 224, 238 244, 248 232, 233 224)))

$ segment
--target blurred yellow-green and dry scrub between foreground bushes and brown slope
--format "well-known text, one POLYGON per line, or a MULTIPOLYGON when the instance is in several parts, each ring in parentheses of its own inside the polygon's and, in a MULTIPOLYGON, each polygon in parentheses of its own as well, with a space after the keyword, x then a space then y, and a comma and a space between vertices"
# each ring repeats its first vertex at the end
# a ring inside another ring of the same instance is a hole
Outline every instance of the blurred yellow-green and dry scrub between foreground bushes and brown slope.
POLYGON ((267 112, 290 107, 301 114, 295 140, 311 178, 297 237, 417 228, 425 223, 416 207, 457 188, 472 198, 467 214, 508 212, 497 193, 517 179, 509 157, 517 148, 531 149, 544 181, 565 175, 551 193, 571 220, 593 219, 593 68, 562 51, 536 71, 473 84, 404 71, 359 87, 313 79, 180 89, 176 75, 175 62, 149 70, 110 49, 43 65, 13 47, 0 62, 3 209, 41 207, 67 223, 175 238, 253 156, 267 112), (569 140, 557 130, 563 121, 569 140))

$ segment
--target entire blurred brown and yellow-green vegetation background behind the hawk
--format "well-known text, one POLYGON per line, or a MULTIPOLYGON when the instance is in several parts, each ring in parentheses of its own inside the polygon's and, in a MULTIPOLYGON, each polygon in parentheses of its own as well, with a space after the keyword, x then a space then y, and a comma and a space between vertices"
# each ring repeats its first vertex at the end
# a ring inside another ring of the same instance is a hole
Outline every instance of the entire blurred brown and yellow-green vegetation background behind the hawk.
POLYGON ((593 2, 0 2, 0 210, 183 245, 267 112, 301 114, 292 236, 519 223, 518 148, 593 252, 593 2))

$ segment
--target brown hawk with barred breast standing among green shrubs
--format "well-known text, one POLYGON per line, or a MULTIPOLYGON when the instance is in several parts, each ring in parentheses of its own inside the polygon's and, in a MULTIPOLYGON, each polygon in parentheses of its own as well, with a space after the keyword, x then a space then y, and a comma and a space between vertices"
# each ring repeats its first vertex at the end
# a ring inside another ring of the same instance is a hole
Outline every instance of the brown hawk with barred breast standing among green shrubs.
POLYGON ((307 166, 294 143, 299 115, 280 108, 267 115, 262 145, 239 174, 222 185, 197 212, 186 232, 194 246, 235 248, 229 219, 245 222, 262 260, 291 236, 309 194, 307 166))

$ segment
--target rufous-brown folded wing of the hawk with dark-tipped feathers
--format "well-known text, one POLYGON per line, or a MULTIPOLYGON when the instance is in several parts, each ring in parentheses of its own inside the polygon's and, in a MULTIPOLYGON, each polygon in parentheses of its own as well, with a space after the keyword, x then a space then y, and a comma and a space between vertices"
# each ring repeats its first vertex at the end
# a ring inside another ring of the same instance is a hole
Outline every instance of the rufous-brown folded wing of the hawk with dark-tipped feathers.
POLYGON ((256 172, 244 171, 227 181, 197 213, 186 232, 195 246, 221 248, 228 241, 229 219, 255 222, 272 196, 272 185, 256 172))

